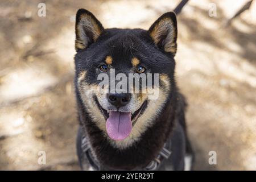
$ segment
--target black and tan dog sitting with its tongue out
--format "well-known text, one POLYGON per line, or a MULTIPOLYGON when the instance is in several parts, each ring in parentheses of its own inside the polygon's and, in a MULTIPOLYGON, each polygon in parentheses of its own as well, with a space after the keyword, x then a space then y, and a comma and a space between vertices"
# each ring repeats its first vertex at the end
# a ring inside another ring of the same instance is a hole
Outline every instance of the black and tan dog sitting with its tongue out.
POLYGON ((185 100, 175 82, 177 22, 160 16, 148 31, 104 29, 80 9, 76 15, 75 88, 82 169, 190 169, 192 148, 185 129, 185 100), (100 73, 159 73, 159 96, 98 92, 100 73), (188 164, 185 165, 185 163, 188 164))

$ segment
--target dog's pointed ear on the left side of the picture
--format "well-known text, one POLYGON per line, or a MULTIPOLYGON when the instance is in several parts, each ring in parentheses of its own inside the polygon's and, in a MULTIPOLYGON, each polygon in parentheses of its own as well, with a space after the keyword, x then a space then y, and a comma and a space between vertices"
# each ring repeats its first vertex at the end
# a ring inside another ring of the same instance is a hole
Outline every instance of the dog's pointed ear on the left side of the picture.
POLYGON ((97 18, 85 9, 76 13, 76 51, 85 49, 96 42, 104 28, 97 18))

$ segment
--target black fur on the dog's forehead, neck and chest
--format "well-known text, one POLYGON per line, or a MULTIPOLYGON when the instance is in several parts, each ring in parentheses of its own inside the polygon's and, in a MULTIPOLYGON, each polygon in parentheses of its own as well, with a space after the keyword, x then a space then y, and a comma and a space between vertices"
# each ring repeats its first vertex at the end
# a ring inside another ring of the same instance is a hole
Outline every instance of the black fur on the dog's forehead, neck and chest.
MULTIPOLYGON (((77 16, 80 14, 81 10, 78 11, 77 16)), ((175 17, 171 16, 170 18, 174 19, 175 17)), ((97 159, 108 169, 135 169, 147 166, 158 155, 164 142, 171 136, 177 125, 183 127, 184 136, 187 139, 184 116, 186 104, 184 97, 181 96, 176 87, 174 56, 170 52, 165 52, 162 44, 159 45, 155 45, 146 30, 111 28, 102 31, 96 42, 92 42, 90 39, 88 47, 77 50, 75 55, 75 88, 80 125, 92 144, 97 159), (104 136, 103 131, 92 121, 82 102, 79 85, 77 85, 77 79, 82 71, 87 71, 83 80, 86 84, 98 84, 100 81, 97 80, 97 75, 100 71, 96 68, 102 64, 107 55, 113 57, 113 67, 116 74, 129 73, 130 69, 133 68, 130 60, 135 56, 146 67, 147 72, 164 73, 170 78, 170 92, 167 102, 164 104, 161 114, 155 118, 154 125, 148 127, 137 142, 123 150, 113 147, 104 136)), ((180 152, 181 154, 181 158, 184 158, 182 152, 180 152)), ((174 168, 183 169, 182 167, 174 168)))

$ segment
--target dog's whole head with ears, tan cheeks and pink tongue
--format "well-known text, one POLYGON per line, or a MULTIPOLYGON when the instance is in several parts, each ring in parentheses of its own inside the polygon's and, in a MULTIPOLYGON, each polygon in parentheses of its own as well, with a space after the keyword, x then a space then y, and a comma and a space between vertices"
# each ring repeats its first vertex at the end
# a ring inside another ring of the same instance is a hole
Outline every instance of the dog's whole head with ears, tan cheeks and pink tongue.
POLYGON ((176 37, 174 13, 160 16, 145 31, 104 29, 92 13, 77 11, 76 92, 92 121, 115 145, 129 146, 161 114, 175 84, 176 37), (129 85, 131 75, 141 77, 139 92, 129 85), (151 86, 142 81, 149 75, 151 86), (108 80, 102 87, 103 77, 108 80))

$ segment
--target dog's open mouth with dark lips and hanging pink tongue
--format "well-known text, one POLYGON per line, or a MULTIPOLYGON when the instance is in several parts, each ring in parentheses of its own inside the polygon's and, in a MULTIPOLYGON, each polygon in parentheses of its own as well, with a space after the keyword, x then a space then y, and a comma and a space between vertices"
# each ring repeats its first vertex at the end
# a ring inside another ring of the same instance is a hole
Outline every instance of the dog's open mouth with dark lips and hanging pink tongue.
POLYGON ((131 114, 129 112, 108 111, 100 105, 96 97, 94 97, 94 101, 106 119, 106 130, 109 137, 114 140, 123 140, 130 135, 132 127, 147 105, 147 101, 144 101, 141 107, 131 114))

